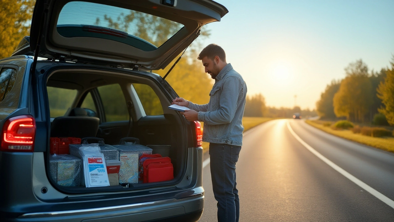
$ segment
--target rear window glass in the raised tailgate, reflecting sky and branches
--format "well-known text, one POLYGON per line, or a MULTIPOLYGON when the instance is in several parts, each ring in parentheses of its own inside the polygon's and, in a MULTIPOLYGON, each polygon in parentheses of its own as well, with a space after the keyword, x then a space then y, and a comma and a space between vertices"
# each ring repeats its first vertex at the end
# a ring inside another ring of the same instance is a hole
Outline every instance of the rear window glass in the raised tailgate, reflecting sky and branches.
POLYGON ((183 27, 147 13, 80 1, 65 4, 57 23, 58 33, 64 37, 104 38, 143 51, 157 49, 183 27))

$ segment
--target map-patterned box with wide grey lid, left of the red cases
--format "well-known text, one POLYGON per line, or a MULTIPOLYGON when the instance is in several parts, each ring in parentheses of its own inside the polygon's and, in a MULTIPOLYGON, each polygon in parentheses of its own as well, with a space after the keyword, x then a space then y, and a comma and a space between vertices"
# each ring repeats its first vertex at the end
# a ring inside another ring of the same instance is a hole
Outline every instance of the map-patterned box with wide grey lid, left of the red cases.
POLYGON ((139 157, 142 154, 152 154, 152 149, 144 145, 127 143, 125 145, 114 145, 119 149, 120 161, 122 162, 119 170, 119 182, 139 183, 139 157), (129 182, 132 181, 132 182, 129 182))

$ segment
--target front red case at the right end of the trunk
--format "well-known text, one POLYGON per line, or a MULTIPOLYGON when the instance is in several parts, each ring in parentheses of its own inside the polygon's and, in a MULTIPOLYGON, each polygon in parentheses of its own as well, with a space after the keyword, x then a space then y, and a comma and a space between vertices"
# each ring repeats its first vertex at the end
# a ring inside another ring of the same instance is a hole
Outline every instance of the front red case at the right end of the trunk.
POLYGON ((169 157, 150 158, 143 162, 145 182, 160 182, 174 179, 174 167, 169 157))

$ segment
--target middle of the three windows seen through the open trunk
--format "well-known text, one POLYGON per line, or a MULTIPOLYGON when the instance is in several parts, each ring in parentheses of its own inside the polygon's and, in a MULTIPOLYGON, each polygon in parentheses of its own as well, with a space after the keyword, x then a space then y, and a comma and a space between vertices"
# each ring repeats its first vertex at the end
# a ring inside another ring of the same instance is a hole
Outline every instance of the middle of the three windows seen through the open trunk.
POLYGON ((129 120, 125 95, 119 84, 97 87, 106 122, 129 120))

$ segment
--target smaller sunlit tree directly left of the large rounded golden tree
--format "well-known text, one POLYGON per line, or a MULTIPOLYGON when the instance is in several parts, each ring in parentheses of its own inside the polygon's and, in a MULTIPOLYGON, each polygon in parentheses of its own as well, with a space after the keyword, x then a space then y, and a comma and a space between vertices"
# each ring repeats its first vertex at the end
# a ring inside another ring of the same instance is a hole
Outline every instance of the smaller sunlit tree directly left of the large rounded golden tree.
POLYGON ((316 109, 322 118, 335 118, 333 99, 338 92, 340 81, 333 80, 331 84, 325 87, 324 92, 320 94, 320 100, 316 102, 316 109))

